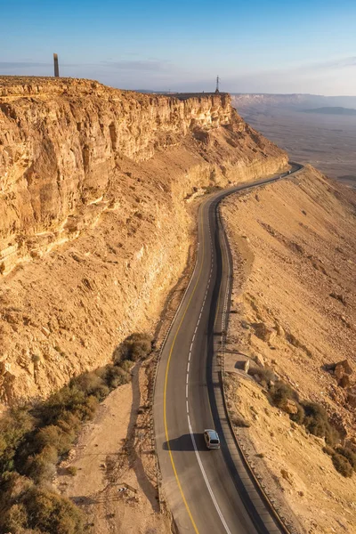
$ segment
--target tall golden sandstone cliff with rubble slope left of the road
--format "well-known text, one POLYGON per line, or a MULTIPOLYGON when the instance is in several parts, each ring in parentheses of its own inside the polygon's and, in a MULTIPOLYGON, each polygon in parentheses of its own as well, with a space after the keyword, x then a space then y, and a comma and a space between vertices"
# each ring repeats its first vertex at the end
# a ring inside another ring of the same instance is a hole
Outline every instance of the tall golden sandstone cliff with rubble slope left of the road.
MULTIPOLYGON (((1 78, 0 78, 1 79, 1 78)), ((184 200, 287 155, 230 96, 0 81, 0 401, 45 395, 152 329, 191 242, 184 200)))

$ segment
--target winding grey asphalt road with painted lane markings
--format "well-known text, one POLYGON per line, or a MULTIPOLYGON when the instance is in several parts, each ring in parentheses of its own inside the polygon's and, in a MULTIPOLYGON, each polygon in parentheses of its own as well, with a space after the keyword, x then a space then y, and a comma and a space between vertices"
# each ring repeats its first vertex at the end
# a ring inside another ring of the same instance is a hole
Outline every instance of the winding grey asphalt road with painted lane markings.
MULTIPOLYGON (((301 167, 292 168, 295 172, 301 167)), ((198 212, 197 264, 166 339, 154 399, 163 490, 179 532, 283 531, 239 457, 226 422, 214 357, 231 280, 231 255, 217 220, 217 206, 233 192, 279 179, 275 176, 220 191, 206 198, 198 212), (205 428, 216 428, 220 450, 206 449, 205 428)))

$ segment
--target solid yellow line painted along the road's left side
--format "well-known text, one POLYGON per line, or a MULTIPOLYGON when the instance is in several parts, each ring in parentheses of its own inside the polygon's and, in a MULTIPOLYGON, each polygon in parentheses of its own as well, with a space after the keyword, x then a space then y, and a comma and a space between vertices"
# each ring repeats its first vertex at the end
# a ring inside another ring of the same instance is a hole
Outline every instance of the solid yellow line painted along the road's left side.
POLYGON ((200 264, 200 269, 199 269, 199 272, 198 272, 198 279, 196 281, 196 284, 193 288, 193 291, 190 295, 190 299, 188 301, 188 304, 184 310, 184 313, 182 314, 182 319, 179 323, 179 326, 177 328, 177 331, 175 333, 175 336, 174 336, 174 340, 173 340, 173 343, 172 343, 172 346, 171 346, 171 350, 169 351, 169 356, 168 356, 168 361, 167 361, 167 366, 166 366, 166 377, 165 377, 165 389, 164 389, 164 392, 163 392, 163 419, 164 419, 164 424, 165 424, 165 433, 166 433, 166 443, 167 443, 167 448, 168 448, 168 452, 169 452, 169 457, 171 459, 171 464, 172 464, 172 467, 173 467, 173 470, 174 470, 174 476, 175 476, 175 480, 177 481, 177 484, 178 484, 178 488, 179 490, 181 491, 181 495, 182 495, 182 499, 183 499, 183 503, 187 509, 187 512, 188 512, 188 515, 190 517, 190 521, 191 521, 191 524, 193 525, 193 528, 194 528, 194 531, 196 532, 196 534, 199 534, 199 531, 198 531, 198 528, 197 528, 197 525, 196 523, 194 522, 194 519, 193 519, 193 516, 190 512, 190 507, 188 505, 188 502, 187 502, 187 499, 185 498, 184 496, 184 493, 183 493, 183 490, 182 490, 182 484, 181 484, 181 481, 179 480, 179 477, 178 477, 178 473, 177 473, 177 470, 175 468, 175 465, 174 465, 174 459, 173 459, 173 454, 172 454, 172 450, 171 450, 171 446, 170 446, 170 443, 169 443, 169 436, 168 436, 168 427, 167 427, 167 422, 166 422, 166 389, 167 389, 167 383, 168 383, 168 372, 169 372, 169 366, 170 366, 170 363, 171 363, 171 358, 172 358, 172 353, 173 353, 173 350, 174 350, 174 344, 175 344, 175 341, 176 341, 176 338, 179 334, 179 331, 182 327, 182 322, 184 320, 184 317, 190 307, 190 303, 191 303, 191 299, 193 298, 193 295, 195 294, 196 292, 196 289, 198 287, 198 281, 200 279, 200 276, 201 276, 201 272, 203 270, 203 264, 204 264, 204 252, 205 252, 205 238, 204 238, 204 230, 203 230, 203 211, 204 211, 204 206, 206 205, 206 202, 201 206, 201 224, 202 224, 202 231, 203 231, 203 240, 202 240, 202 254, 201 254, 201 264, 200 264))

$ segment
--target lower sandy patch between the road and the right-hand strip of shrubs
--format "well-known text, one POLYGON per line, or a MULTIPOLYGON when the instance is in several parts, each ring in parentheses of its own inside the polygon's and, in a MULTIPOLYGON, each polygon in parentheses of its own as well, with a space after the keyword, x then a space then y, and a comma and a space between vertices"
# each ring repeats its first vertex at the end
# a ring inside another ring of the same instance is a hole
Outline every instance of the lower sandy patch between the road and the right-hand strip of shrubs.
POLYGON ((253 380, 242 374, 227 380, 237 411, 250 425, 239 428, 239 441, 283 516, 295 516, 298 532, 356 532, 356 476, 340 476, 322 452, 323 440, 272 407, 253 380))

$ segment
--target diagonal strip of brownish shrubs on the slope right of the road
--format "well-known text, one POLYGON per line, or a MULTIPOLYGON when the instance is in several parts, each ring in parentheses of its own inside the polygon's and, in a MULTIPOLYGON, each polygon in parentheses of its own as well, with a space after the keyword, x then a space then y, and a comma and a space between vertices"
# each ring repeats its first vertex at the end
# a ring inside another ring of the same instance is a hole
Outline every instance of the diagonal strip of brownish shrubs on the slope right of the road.
POLYGON ((287 412, 292 421, 303 425, 309 433, 325 439, 323 451, 331 457, 336 471, 351 477, 356 471, 356 453, 341 445, 341 436, 330 423, 327 410, 317 402, 301 400, 298 392, 279 380, 270 368, 250 368, 249 373, 263 386, 273 406, 287 412))

